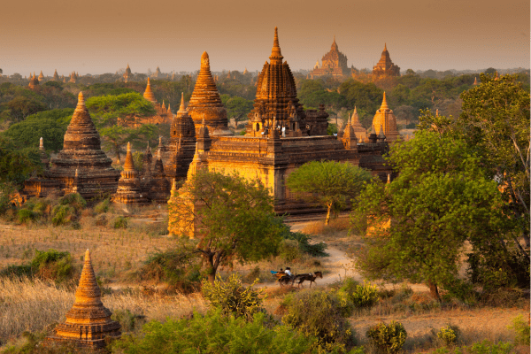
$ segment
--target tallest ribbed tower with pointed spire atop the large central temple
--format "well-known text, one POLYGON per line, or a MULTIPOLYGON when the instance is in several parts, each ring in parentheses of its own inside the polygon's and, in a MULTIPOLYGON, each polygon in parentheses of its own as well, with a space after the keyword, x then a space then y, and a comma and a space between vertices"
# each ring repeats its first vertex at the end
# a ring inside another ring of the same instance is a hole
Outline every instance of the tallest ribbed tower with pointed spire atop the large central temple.
POLYGON ((287 62, 282 62, 277 27, 270 62, 258 76, 257 96, 249 113, 246 135, 260 136, 266 129, 284 128, 286 136, 308 135, 306 113, 296 97, 296 84, 287 62))

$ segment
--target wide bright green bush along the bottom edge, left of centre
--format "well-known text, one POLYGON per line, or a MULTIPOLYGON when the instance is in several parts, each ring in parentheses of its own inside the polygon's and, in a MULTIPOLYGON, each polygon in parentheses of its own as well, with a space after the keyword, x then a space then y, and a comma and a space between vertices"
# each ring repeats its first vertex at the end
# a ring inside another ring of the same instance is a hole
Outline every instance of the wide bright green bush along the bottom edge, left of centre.
POLYGON ((303 354, 308 353, 315 338, 297 334, 289 327, 267 326, 266 315, 256 313, 250 321, 224 316, 220 311, 205 316, 194 313, 192 319, 151 321, 138 336, 122 335, 112 344, 112 351, 127 354, 173 354, 200 352, 303 354))

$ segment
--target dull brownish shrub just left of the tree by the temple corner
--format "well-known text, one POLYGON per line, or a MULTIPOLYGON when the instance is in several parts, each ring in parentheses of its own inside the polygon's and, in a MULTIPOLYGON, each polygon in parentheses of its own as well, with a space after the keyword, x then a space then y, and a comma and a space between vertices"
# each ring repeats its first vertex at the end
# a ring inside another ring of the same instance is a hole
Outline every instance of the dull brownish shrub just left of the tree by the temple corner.
POLYGON ((189 293, 196 291, 201 281, 201 264, 196 255, 180 245, 150 255, 138 272, 141 280, 165 281, 170 286, 189 293))

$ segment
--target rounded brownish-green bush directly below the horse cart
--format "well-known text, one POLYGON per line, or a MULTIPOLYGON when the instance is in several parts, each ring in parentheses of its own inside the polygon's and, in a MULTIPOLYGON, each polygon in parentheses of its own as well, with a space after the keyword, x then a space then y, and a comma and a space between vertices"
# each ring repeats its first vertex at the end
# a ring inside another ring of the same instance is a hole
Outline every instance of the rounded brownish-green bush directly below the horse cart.
POLYGON ((318 338, 318 350, 344 351, 354 345, 354 332, 340 299, 325 290, 301 291, 286 296, 281 306, 282 322, 308 336, 318 338))

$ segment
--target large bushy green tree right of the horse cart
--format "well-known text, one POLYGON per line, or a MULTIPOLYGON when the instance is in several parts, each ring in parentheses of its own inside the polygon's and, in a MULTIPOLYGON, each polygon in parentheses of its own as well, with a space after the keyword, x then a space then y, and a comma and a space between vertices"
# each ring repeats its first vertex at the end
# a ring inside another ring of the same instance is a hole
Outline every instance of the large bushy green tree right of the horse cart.
POLYGON ((425 282, 440 300, 439 287, 457 282, 465 242, 499 242, 511 229, 504 200, 462 140, 419 131, 396 142, 389 163, 396 180, 358 197, 353 215, 368 220, 368 231, 357 266, 369 278, 425 282))

